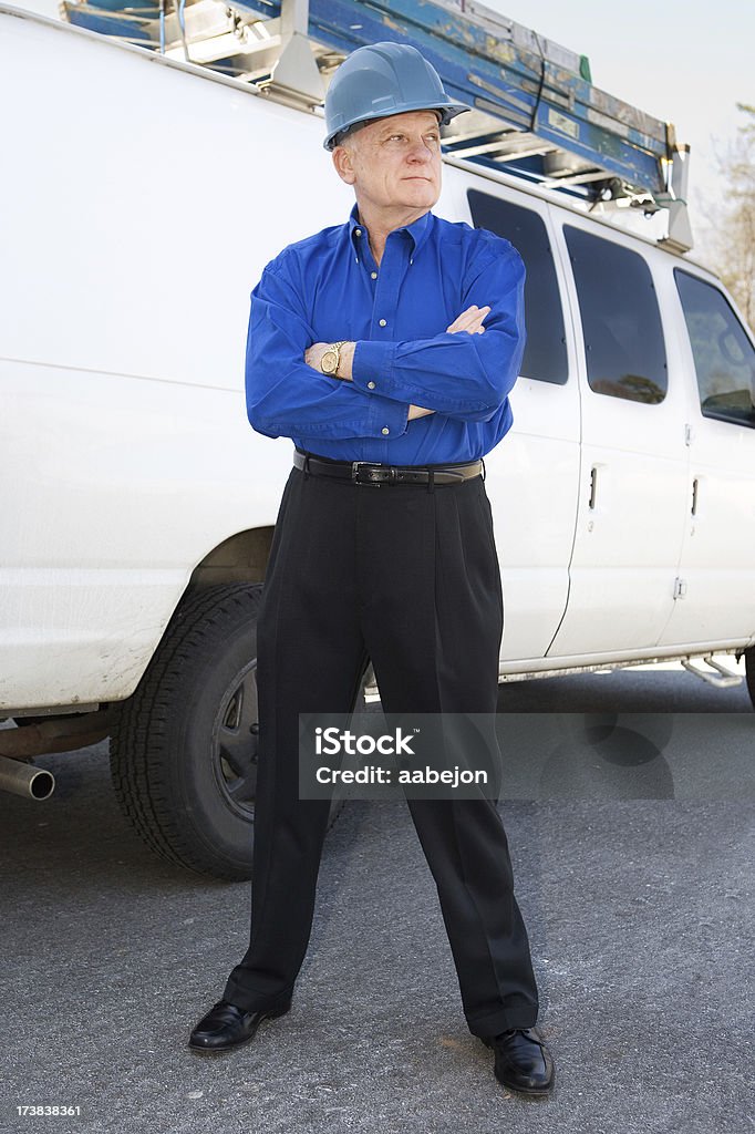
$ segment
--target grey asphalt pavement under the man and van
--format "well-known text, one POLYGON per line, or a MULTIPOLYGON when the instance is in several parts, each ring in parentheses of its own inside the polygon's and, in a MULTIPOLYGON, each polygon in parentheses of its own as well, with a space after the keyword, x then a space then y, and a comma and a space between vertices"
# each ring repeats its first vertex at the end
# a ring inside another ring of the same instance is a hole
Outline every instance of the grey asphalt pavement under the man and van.
POLYGON ((469 1034, 400 802, 350 801, 331 830, 290 1014, 234 1053, 190 1052, 246 948, 249 886, 153 856, 118 811, 103 743, 40 758, 57 778, 43 803, 0 794, 0 1129, 752 1129, 746 691, 626 670, 507 685, 499 711, 552 1097, 503 1090, 469 1034), (16 1111, 44 1105, 80 1114, 16 1111))

